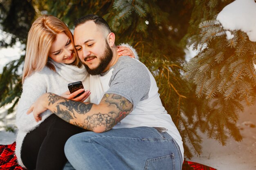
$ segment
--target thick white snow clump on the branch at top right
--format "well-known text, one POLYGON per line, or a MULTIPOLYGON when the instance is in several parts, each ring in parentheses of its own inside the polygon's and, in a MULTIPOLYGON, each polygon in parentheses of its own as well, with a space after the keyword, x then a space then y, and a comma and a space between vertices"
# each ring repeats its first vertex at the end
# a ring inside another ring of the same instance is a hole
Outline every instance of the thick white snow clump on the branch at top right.
POLYGON ((241 30, 249 40, 256 42, 256 2, 254 0, 235 0, 228 4, 217 16, 224 29, 241 30))

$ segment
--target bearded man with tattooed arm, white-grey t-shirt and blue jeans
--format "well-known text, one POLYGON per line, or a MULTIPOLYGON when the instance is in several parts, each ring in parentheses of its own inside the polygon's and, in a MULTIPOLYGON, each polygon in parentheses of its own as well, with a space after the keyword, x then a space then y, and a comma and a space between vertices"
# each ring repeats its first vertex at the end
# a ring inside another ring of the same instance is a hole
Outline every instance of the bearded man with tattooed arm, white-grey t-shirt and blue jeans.
POLYGON ((97 15, 76 20, 74 43, 88 73, 95 75, 90 83, 100 81, 91 84, 91 100, 96 104, 46 93, 29 109, 37 121, 49 109, 92 131, 67 141, 65 155, 71 165, 76 170, 181 170, 182 139, 146 66, 119 57, 115 34, 97 15))

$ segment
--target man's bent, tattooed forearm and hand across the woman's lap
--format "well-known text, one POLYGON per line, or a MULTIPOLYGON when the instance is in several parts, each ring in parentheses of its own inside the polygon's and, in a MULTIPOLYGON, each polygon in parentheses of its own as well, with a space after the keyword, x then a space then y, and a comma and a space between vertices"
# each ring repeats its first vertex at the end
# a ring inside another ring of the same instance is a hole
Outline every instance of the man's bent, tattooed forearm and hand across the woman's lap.
POLYGON ((29 108, 36 121, 40 114, 49 109, 70 124, 94 132, 110 130, 132 111, 132 103, 116 94, 105 94, 97 104, 65 99, 53 93, 45 93, 29 108))

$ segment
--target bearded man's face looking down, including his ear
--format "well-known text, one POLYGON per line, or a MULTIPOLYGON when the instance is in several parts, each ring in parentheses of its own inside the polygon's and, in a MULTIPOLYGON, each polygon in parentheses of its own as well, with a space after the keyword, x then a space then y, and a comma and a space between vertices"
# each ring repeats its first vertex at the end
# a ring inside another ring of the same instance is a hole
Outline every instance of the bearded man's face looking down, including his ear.
POLYGON ((93 21, 85 22, 74 30, 74 44, 88 73, 97 75, 106 70, 113 53, 106 41, 107 33, 93 21))

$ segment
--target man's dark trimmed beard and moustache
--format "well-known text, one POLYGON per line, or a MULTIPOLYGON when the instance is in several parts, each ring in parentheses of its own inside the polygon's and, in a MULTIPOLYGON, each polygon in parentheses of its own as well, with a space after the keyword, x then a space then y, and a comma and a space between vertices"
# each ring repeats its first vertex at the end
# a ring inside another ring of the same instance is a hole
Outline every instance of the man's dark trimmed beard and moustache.
MULTIPOLYGON (((90 57, 96 57, 96 56, 90 56, 90 57)), ((87 72, 90 75, 99 75, 99 74, 103 73, 103 71, 106 69, 106 67, 108 66, 108 64, 112 60, 112 57, 113 57, 113 52, 110 49, 110 46, 108 45, 108 42, 106 40, 105 51, 104 51, 104 53, 101 57, 98 57, 99 66, 97 66, 94 69, 90 69, 88 65, 86 65, 86 64, 83 64, 83 65, 85 66, 87 72)), ((86 61, 86 58, 84 59, 84 61, 86 61)))

